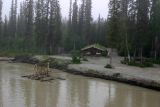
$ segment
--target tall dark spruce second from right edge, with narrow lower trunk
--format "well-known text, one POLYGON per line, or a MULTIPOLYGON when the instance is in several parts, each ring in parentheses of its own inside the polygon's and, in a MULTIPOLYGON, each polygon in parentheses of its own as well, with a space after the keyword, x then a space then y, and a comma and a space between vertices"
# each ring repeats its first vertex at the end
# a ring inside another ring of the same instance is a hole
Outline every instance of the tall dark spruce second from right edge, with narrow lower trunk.
POLYGON ((149 34, 149 0, 137 0, 137 45, 141 63, 143 63, 143 51, 149 34))

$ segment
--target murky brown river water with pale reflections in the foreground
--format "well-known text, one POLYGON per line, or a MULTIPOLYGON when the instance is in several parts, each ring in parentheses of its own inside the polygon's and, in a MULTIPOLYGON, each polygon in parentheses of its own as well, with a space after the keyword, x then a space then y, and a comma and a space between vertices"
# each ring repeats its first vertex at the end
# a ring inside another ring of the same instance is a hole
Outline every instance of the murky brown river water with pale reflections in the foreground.
POLYGON ((0 107, 160 107, 153 90, 58 70, 53 75, 66 80, 21 78, 32 71, 32 65, 0 62, 0 107))

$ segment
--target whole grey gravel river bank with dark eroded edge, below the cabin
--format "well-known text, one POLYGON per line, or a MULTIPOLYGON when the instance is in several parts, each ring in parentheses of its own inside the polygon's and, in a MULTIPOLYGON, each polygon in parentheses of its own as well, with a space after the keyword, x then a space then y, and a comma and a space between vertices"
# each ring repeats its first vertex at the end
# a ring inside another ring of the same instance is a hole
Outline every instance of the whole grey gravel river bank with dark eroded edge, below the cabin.
MULTIPOLYGON (((71 58, 66 56, 35 56, 31 58, 34 60, 29 59, 29 61, 27 61, 24 58, 25 61, 17 60, 17 62, 34 64, 33 61, 41 62, 48 58, 54 59, 54 63, 50 66, 54 69, 160 91, 160 66, 155 65, 153 68, 130 67, 120 64, 120 57, 114 58, 114 69, 104 68, 108 59, 101 57, 89 57, 88 61, 84 61, 82 64, 71 64, 71 58)), ((16 59, 14 61, 16 62, 16 59)))

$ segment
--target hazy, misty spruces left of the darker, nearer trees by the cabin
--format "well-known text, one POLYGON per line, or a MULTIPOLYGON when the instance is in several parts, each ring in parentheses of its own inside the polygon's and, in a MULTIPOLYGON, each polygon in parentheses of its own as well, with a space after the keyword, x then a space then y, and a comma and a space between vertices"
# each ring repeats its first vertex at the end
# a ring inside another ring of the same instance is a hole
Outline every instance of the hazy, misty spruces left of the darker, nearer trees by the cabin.
POLYGON ((12 0, 9 16, 2 20, 0 0, 0 50, 56 54, 80 49, 85 45, 104 44, 105 20, 92 19, 92 1, 70 0, 69 18, 61 17, 58 0, 25 0, 17 9, 12 0), (101 35, 100 37, 98 35, 101 35))

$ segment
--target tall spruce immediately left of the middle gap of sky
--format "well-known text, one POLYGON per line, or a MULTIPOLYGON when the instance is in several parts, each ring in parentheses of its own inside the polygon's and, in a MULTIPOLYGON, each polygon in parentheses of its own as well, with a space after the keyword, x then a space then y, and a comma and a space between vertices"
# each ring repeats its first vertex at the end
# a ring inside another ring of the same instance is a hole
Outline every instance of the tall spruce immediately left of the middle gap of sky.
POLYGON ((58 0, 50 1, 49 31, 47 36, 47 54, 54 54, 58 50, 61 39, 61 15, 58 0))

